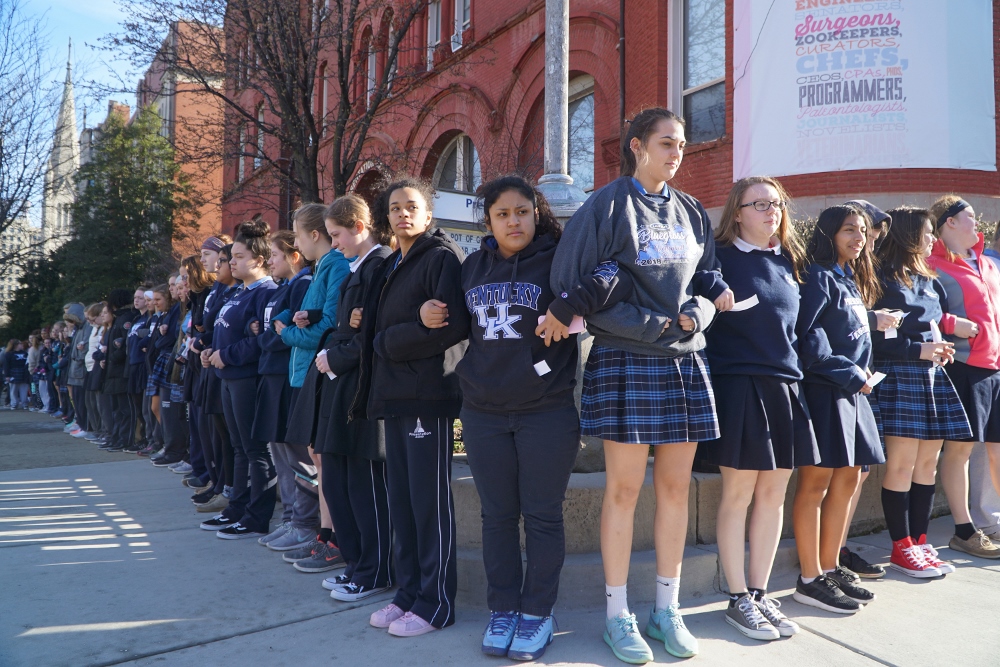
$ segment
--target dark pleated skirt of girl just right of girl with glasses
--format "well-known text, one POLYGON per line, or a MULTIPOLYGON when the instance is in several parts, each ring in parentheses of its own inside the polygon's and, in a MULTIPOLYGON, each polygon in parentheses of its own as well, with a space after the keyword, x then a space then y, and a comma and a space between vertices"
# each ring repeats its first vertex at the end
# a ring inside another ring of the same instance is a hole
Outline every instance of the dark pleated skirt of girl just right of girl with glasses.
POLYGON ((885 463, 878 422, 867 396, 818 382, 803 382, 802 388, 819 447, 816 465, 848 468, 885 463))

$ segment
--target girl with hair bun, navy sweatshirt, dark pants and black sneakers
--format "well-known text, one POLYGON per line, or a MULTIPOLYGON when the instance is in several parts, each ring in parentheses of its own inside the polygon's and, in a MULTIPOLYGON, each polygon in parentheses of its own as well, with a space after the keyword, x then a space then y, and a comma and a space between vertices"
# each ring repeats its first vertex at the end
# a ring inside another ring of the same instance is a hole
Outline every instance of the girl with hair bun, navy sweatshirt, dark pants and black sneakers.
POLYGON ((267 442, 254 438, 260 344, 250 325, 259 322, 277 287, 267 275, 271 255, 268 226, 257 219, 237 228, 233 241, 233 277, 243 286, 215 319, 211 363, 222 379, 222 409, 233 443, 233 496, 219 516, 201 524, 223 539, 266 535, 274 512, 274 465, 267 442))

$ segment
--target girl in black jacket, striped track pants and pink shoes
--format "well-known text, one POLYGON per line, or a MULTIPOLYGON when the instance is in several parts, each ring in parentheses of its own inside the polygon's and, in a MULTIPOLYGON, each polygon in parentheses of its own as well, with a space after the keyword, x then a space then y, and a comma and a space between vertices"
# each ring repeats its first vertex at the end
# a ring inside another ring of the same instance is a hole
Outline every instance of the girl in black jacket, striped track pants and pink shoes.
POLYGON ((361 317, 362 358, 351 413, 382 419, 389 517, 396 531, 399 590, 371 624, 400 637, 455 622, 455 512, 451 496, 452 423, 461 394, 455 364, 465 352, 469 314, 454 308, 450 325, 428 329, 420 306, 462 302, 462 251, 431 230, 434 191, 417 179, 386 188, 375 225, 392 227, 399 250, 372 282, 361 317), (367 403, 367 411, 362 406, 367 403))

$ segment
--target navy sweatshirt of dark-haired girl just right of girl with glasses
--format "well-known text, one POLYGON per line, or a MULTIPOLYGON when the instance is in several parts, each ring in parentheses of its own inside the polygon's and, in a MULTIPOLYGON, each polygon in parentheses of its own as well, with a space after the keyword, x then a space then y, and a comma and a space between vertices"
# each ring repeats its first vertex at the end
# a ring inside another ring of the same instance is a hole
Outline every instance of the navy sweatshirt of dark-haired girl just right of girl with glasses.
POLYGON ((803 380, 858 393, 868 381, 872 341, 868 308, 853 275, 837 265, 813 264, 801 294, 795 332, 803 380))

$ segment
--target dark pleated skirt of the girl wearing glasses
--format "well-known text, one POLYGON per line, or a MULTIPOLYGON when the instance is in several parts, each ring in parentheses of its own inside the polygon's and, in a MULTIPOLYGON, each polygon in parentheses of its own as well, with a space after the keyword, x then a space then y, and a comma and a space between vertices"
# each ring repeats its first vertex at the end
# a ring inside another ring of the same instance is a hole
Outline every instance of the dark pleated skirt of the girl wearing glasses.
POLYGON ((697 458, 737 470, 816 465, 816 434, 802 385, 766 375, 713 375, 721 435, 697 458))

